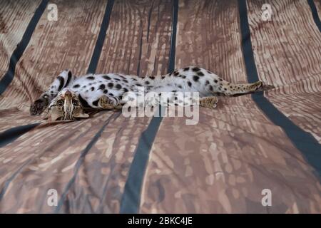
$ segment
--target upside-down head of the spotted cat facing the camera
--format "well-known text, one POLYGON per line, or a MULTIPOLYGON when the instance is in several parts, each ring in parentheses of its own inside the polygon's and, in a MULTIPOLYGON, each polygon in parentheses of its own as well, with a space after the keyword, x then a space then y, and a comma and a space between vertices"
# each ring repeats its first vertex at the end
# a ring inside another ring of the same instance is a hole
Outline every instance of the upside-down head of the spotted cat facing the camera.
POLYGON ((48 109, 49 120, 76 120, 77 118, 88 118, 89 115, 83 113, 83 106, 78 98, 78 94, 63 89, 56 98, 51 101, 48 109))

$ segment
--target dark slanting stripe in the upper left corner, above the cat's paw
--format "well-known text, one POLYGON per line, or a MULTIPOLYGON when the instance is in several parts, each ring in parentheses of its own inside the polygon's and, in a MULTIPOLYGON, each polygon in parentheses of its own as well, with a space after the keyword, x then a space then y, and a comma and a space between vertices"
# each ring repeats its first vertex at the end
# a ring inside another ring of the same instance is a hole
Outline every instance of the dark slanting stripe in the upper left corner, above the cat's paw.
POLYGON ((12 53, 10 57, 8 71, 0 81, 0 95, 4 93, 6 88, 8 88, 10 83, 14 80, 16 63, 18 63, 22 54, 26 50, 26 47, 28 46, 28 43, 31 39, 32 33, 34 33, 34 29, 36 28, 36 25, 38 24, 39 19, 41 18, 41 15, 44 13, 46 9, 47 3, 48 3, 48 0, 41 1, 41 4, 36 9, 34 16, 32 16, 32 19, 29 22, 26 28, 26 31, 24 32, 24 36, 22 36, 20 43, 18 43, 18 45, 16 46, 16 49, 14 49, 14 53, 12 53))

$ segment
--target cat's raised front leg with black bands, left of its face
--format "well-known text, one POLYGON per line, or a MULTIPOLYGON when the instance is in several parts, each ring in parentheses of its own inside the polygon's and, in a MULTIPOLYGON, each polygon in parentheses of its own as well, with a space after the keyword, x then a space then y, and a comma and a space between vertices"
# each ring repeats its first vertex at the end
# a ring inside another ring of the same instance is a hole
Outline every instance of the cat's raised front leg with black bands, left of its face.
POLYGON ((41 93, 40 97, 32 103, 30 107, 31 115, 40 115, 48 107, 51 100, 56 98, 56 95, 63 88, 68 87, 68 85, 73 82, 73 76, 71 71, 66 70, 59 74, 59 76, 54 80, 49 86, 49 89, 44 93, 41 93))

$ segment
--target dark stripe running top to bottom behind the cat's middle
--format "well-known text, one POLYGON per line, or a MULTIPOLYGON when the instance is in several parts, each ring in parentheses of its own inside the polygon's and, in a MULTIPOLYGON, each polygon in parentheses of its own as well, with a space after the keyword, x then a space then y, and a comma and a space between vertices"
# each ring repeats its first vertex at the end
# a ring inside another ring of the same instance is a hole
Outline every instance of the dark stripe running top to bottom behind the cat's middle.
MULTIPOLYGON (((173 1, 173 22, 172 34, 170 38, 170 58, 168 63, 168 73, 174 71, 175 67, 175 45, 176 45, 176 30, 178 21, 178 0, 173 1)), ((143 179, 150 156, 151 147, 155 140, 158 128, 161 125, 162 113, 164 108, 158 108, 159 117, 153 117, 148 128, 143 131, 139 138, 133 162, 126 180, 123 197, 121 199, 121 213, 138 213, 141 204, 141 188, 143 179)))

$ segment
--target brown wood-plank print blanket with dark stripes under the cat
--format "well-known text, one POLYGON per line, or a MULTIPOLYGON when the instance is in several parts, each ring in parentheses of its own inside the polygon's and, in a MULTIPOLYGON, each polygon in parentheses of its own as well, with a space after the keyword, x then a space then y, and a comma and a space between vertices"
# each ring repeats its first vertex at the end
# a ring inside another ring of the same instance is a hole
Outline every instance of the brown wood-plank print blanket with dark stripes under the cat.
POLYGON ((321 212, 320 0, 50 3, 57 21, 46 0, 0 2, 0 212, 321 212), (275 89, 220 98, 197 125, 29 116, 66 68, 144 77, 193 65, 275 89))

